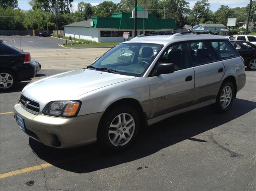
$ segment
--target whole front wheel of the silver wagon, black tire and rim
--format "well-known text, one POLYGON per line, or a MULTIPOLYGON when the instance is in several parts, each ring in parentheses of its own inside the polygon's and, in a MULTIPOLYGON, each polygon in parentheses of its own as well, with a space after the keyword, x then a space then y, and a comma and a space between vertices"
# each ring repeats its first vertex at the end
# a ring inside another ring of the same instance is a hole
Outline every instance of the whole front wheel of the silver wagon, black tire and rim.
POLYGON ((123 151, 134 142, 139 124, 138 112, 133 107, 112 107, 106 110, 100 121, 97 141, 103 148, 123 151))

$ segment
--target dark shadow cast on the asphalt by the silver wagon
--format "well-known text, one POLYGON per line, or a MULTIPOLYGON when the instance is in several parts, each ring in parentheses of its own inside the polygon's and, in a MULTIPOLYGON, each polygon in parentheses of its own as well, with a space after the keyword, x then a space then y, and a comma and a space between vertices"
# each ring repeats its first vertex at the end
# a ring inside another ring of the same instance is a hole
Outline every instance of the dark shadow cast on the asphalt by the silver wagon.
MULTIPOLYGON (((32 138, 29 144, 40 159, 67 171, 86 173, 152 155, 161 149, 241 117, 255 108, 256 102, 235 99, 231 109, 226 113, 215 113, 210 107, 203 107, 170 117, 144 129, 135 143, 122 153, 103 151, 97 144, 72 149, 55 149, 32 138)), ((203 139, 190 140, 202 144, 206 142, 203 139)), ((159 152, 159 155, 164 154, 164 151, 159 152)))

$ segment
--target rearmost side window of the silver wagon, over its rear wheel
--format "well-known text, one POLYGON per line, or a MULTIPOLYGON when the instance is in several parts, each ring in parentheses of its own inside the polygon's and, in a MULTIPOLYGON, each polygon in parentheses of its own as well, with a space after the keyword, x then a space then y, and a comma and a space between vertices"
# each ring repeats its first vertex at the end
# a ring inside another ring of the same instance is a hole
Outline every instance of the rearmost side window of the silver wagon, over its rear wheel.
POLYGON ((211 45, 216 51, 219 59, 238 56, 237 52, 234 50, 234 46, 232 46, 228 41, 211 42, 211 45))

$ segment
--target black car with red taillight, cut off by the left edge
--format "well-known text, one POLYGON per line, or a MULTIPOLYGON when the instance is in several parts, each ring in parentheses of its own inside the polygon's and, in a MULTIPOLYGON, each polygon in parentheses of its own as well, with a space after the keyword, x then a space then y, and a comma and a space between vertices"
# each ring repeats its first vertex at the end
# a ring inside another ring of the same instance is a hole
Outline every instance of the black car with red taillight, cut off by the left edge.
POLYGON ((22 80, 36 76, 29 52, 0 41, 0 90, 11 90, 22 80))

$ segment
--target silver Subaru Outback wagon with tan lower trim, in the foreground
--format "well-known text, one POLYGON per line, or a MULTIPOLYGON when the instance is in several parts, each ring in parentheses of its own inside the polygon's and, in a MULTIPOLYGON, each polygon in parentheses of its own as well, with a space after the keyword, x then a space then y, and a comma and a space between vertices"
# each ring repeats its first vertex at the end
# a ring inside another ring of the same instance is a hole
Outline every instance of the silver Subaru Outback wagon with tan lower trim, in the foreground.
POLYGON ((206 105, 227 111, 245 83, 244 60, 222 36, 142 35, 87 68, 28 84, 14 113, 22 131, 45 145, 97 141, 122 150, 142 127, 172 115, 206 105))

